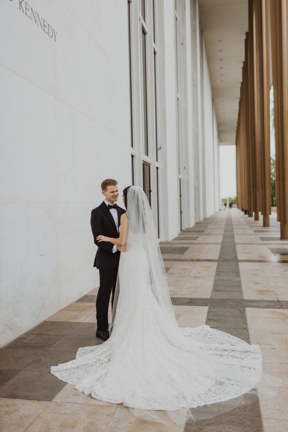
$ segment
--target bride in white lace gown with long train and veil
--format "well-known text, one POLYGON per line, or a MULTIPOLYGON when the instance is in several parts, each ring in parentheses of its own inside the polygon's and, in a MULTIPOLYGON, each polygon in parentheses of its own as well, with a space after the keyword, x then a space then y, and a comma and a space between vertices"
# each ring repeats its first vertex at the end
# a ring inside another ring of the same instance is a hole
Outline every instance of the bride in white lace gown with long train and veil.
POLYGON ((184 412, 185 421, 192 408, 255 388, 261 375, 257 345, 206 325, 178 327, 146 194, 130 186, 123 201, 127 214, 120 219, 120 237, 98 237, 126 245, 111 336, 101 345, 79 348, 75 360, 51 372, 85 394, 156 421, 161 420, 143 413, 184 412))

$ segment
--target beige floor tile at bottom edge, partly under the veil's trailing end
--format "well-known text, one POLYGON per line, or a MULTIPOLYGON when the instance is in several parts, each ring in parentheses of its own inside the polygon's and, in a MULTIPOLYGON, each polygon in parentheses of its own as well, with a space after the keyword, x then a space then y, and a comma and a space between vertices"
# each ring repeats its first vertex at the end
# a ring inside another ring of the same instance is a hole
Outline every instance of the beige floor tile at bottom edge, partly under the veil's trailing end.
MULTIPOLYGON (((157 412, 163 417, 165 414, 157 412)), ((129 408, 117 408, 114 416, 108 424, 105 432, 183 432, 184 426, 177 426, 175 423, 167 426, 161 423, 142 420, 133 415, 129 408)))

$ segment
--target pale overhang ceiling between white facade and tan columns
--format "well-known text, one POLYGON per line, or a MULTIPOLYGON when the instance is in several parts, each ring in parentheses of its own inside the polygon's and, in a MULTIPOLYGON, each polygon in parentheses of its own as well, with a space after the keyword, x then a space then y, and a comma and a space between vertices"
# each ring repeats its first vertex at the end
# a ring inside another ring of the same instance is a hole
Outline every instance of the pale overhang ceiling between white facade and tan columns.
POLYGON ((248 0, 198 0, 219 144, 235 144, 248 0))

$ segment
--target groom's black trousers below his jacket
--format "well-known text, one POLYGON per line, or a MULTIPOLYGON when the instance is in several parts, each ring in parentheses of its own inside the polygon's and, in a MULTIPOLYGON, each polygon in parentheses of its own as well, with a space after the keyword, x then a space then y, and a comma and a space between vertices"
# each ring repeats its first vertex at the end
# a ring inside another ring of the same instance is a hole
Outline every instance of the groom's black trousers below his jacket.
POLYGON ((97 329, 108 330, 108 307, 112 291, 111 305, 113 308, 114 292, 117 281, 118 266, 110 270, 99 269, 100 285, 96 298, 97 329))

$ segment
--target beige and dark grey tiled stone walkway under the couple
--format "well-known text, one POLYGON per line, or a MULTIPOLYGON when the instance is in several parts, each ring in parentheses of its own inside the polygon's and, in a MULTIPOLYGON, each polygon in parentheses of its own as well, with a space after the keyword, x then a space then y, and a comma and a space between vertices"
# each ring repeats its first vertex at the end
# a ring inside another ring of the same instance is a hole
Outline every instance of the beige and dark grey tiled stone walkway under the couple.
POLYGON ((1 432, 286 432, 288 241, 279 240, 275 213, 270 225, 227 209, 161 243, 161 252, 179 326, 208 324, 260 344, 263 371, 282 378, 273 396, 245 395, 251 403, 215 404, 204 420, 168 427, 59 381, 51 365, 101 343, 95 289, 0 350, 1 432))

